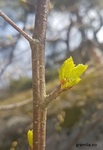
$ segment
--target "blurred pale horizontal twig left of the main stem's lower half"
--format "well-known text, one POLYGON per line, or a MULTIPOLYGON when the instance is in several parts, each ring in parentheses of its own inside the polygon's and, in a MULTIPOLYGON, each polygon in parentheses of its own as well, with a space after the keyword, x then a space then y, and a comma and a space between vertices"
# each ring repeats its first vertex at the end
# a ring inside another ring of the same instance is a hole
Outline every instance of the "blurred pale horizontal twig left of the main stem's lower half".
POLYGON ((8 104, 8 105, 1 105, 0 110, 9 110, 9 109, 18 108, 18 107, 24 106, 24 105, 26 105, 30 102, 32 102, 32 98, 26 99, 25 101, 18 102, 18 103, 13 103, 13 104, 8 104))

